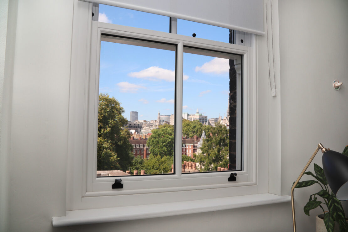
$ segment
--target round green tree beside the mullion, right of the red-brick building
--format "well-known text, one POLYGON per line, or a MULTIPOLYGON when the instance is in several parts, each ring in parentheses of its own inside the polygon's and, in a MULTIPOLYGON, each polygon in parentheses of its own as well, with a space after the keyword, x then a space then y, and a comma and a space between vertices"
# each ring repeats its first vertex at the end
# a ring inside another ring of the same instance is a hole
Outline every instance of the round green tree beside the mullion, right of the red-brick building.
MULTIPOLYGON (((174 126, 161 125, 158 129, 153 129, 151 137, 147 141, 151 155, 174 156, 174 126)), ((150 155, 150 156, 151 156, 150 155)))

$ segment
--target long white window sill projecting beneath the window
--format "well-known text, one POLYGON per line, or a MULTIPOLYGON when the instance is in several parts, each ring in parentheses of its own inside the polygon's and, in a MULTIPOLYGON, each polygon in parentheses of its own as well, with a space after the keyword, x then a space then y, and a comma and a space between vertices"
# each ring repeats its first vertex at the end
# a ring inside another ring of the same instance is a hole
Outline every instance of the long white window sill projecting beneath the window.
POLYGON ((181 201, 153 205, 72 210, 66 211, 65 217, 53 217, 52 225, 54 227, 57 227, 127 221, 134 219, 165 217, 182 214, 203 213, 224 209, 268 205, 288 202, 290 200, 291 197, 288 195, 278 196, 270 193, 263 193, 238 197, 181 201))

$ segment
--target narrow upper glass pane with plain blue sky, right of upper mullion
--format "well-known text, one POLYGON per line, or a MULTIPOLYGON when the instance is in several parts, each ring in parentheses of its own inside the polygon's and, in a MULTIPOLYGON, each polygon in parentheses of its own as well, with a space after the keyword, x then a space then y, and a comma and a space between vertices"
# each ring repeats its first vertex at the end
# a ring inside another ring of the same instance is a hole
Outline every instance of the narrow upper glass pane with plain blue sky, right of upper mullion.
POLYGON ((196 38, 228 43, 230 30, 204 23, 197 23, 179 18, 177 19, 177 34, 192 36, 193 33, 196 34, 196 38))

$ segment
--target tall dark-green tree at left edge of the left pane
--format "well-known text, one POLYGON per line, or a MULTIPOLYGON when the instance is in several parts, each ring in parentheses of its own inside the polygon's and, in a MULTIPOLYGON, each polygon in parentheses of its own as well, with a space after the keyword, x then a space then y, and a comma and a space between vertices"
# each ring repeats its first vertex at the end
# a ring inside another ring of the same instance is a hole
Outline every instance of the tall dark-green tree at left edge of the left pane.
POLYGON ((115 98, 99 95, 97 170, 126 171, 132 162, 130 133, 123 128, 128 122, 122 116, 124 112, 115 98))

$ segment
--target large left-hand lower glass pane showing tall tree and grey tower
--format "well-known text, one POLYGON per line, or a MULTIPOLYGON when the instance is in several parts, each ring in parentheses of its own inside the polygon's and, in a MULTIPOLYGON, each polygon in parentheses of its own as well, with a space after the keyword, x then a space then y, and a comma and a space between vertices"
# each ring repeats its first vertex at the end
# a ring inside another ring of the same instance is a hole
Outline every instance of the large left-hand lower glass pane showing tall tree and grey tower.
POLYGON ((175 46, 102 40, 97 176, 172 173, 175 46))

